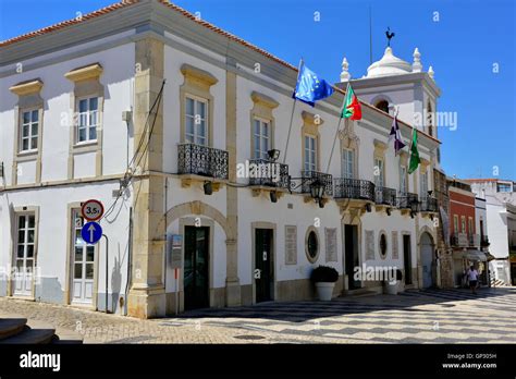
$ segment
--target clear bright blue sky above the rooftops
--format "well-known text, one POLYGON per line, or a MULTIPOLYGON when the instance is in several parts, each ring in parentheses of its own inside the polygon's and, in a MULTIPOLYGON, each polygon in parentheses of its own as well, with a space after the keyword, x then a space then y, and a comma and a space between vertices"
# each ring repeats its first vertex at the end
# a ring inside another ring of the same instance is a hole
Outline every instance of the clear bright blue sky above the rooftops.
MULTIPOLYGON (((113 0, 0 0, 0 39, 75 17, 113 0), (26 10, 30 9, 27 14, 26 10)), ((439 111, 457 112, 458 127, 439 130, 442 164, 458 178, 516 180, 515 3, 512 0, 176 0, 176 4, 297 65, 337 82, 345 56, 363 76, 369 65, 369 7, 373 60, 396 33, 394 53, 423 70, 442 89, 439 111), (320 21, 315 22, 315 12, 320 21), (439 12, 435 22, 434 12, 439 12), (499 73, 493 73, 493 64, 499 73)))

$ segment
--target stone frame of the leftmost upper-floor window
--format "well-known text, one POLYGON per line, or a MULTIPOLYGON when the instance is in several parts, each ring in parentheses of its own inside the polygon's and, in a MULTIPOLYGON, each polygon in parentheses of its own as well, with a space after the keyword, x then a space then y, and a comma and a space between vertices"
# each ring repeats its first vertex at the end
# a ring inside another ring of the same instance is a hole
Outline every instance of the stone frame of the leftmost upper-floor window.
POLYGON ((12 185, 17 184, 19 162, 36 161, 35 182, 41 183, 41 156, 44 137, 44 114, 45 101, 41 98, 41 88, 44 82, 40 78, 34 78, 17 83, 9 89, 17 96, 17 102, 14 106, 14 140, 13 140, 13 164, 12 164, 12 185), (21 129, 23 113, 27 111, 38 111, 38 143, 37 148, 26 151, 20 150, 21 129))

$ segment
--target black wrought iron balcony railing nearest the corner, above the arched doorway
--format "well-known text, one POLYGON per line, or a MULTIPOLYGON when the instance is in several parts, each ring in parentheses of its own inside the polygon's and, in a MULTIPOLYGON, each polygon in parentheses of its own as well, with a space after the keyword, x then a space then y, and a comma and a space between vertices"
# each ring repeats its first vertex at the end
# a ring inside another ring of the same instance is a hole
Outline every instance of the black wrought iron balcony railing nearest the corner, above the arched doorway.
POLYGON ((228 179, 229 155, 225 150, 196 144, 177 147, 177 172, 216 179, 228 179))

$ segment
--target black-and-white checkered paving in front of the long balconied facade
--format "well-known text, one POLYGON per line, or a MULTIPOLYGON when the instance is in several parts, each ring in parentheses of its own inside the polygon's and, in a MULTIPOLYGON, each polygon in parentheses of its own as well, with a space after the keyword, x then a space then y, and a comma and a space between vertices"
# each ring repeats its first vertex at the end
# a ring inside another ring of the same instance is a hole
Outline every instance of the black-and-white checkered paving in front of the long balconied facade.
POLYGON ((484 289, 202 309, 180 320, 273 333, 278 342, 516 343, 515 315, 516 289, 484 289))

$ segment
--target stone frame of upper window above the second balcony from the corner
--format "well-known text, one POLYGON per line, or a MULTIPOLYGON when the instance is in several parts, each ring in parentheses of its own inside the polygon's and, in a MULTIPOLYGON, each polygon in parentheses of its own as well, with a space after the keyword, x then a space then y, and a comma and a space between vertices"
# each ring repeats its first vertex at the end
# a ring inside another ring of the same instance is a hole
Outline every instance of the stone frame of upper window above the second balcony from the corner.
POLYGON ((258 159, 255 156, 255 120, 269 123, 269 149, 275 148, 275 119, 273 110, 280 105, 273 98, 254 90, 250 94, 253 100, 253 108, 249 111, 250 123, 250 155, 253 159, 258 159))

